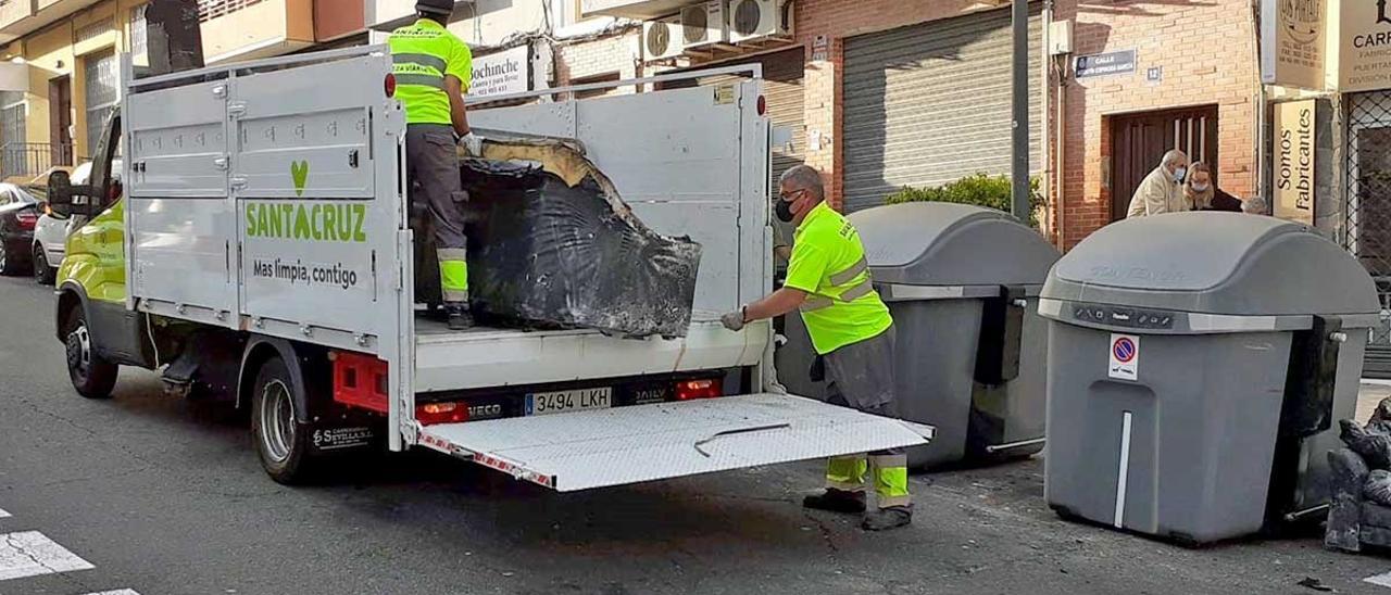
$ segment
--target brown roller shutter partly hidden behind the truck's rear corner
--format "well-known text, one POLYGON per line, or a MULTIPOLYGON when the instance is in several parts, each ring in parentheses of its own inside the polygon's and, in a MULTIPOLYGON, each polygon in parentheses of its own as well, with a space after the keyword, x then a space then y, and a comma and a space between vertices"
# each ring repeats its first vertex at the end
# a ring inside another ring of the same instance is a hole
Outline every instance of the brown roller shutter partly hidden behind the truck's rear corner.
MULTIPOLYGON (((803 60, 803 49, 794 47, 790 50, 758 56, 750 60, 736 60, 718 64, 721 67, 753 63, 764 65, 764 99, 768 100, 768 117, 772 120, 773 127, 791 129, 790 150, 787 150, 789 147, 773 147, 773 163, 771 171, 773 182, 778 181, 778 177, 782 175, 783 171, 801 164, 805 158, 804 152, 807 149, 807 129, 803 124, 805 113, 803 110, 804 95, 801 88, 805 61, 803 60)), ((733 76, 709 76, 700 81, 677 81, 666 83, 664 88, 679 89, 696 85, 716 85, 721 79, 730 78, 733 76)))

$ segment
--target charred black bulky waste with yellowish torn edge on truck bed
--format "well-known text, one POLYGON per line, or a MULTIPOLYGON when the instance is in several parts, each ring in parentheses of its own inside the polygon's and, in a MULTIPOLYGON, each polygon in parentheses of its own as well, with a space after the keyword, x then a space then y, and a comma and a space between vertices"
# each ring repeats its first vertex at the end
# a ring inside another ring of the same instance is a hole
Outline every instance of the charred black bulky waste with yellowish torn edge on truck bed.
POLYGON ((480 321, 686 336, 700 243, 647 228, 563 142, 488 139, 484 157, 460 160, 480 321))

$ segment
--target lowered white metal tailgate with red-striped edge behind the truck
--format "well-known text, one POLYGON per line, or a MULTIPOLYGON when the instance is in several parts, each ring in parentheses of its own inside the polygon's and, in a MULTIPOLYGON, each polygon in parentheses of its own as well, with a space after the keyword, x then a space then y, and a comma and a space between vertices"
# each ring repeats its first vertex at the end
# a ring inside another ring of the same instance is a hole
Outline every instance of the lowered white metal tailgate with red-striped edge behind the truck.
POLYGON ((420 443, 573 492, 928 443, 931 425, 791 395, 740 395, 427 425, 420 443))

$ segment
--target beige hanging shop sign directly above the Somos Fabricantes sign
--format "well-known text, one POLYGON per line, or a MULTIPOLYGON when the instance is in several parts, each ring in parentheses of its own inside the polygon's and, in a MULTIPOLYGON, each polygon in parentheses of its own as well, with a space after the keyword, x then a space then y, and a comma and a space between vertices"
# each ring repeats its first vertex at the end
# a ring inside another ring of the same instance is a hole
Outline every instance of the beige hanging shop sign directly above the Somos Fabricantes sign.
POLYGON ((1314 90, 1326 86, 1327 14, 1328 0, 1262 0, 1262 82, 1314 90))

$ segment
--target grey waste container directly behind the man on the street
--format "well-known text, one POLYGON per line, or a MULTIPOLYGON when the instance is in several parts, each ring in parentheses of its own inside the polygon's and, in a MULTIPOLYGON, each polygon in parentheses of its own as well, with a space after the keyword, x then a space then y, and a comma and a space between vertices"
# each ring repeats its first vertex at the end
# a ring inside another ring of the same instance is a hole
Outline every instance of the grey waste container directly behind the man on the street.
MULTIPOLYGON (((850 221, 893 313, 899 414, 938 428, 908 464, 1042 449, 1047 328, 1034 303, 1057 250, 1010 215, 967 204, 890 204, 850 221)), ((793 318, 779 377, 804 388, 812 352, 793 318)))

